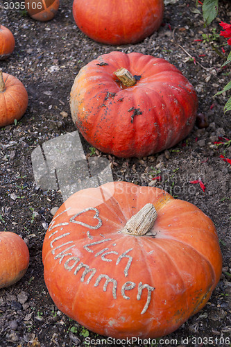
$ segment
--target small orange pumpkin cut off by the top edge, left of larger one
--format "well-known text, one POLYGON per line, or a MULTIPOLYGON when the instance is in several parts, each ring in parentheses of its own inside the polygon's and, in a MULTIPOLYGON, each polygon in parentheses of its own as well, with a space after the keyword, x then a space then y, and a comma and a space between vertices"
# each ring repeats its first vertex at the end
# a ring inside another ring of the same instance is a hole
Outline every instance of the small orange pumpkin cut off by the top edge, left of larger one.
POLYGON ((26 10, 31 18, 47 22, 55 17, 60 6, 59 0, 26 0, 26 10))

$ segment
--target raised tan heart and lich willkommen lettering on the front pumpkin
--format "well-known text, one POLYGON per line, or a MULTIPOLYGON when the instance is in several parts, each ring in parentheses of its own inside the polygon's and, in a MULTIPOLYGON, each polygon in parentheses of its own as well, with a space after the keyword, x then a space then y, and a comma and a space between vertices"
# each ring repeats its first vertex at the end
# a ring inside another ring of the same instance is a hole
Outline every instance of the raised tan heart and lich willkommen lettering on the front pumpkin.
MULTIPOLYGON (((69 210, 69 209, 67 209, 69 210)), ((63 211, 62 213, 66 212, 67 210, 63 211)), ((61 214, 62 214, 61 213, 61 214)), ((57 218, 58 216, 56 216, 57 218)), ((98 229, 101 227, 102 225, 102 221, 99 218, 99 210, 97 210, 96 208, 88 208, 85 209, 81 212, 78 212, 77 214, 75 214, 73 217, 71 217, 70 219, 70 223, 78 223, 80 226, 83 227, 87 227, 87 228, 92 228, 92 229, 98 229), (89 210, 94 210, 96 212, 95 216, 93 218, 97 219, 99 221, 99 223, 92 227, 89 226, 89 224, 80 222, 80 221, 76 221, 76 217, 78 217, 78 215, 80 215, 83 212, 87 212, 89 210)), ((100 273, 98 275, 97 270, 93 267, 90 268, 89 265, 83 263, 80 261, 80 258, 77 257, 76 255, 74 255, 73 253, 70 252, 71 248, 76 247, 76 245, 74 244, 73 240, 69 240, 67 242, 64 241, 64 243, 59 243, 58 246, 55 246, 55 242, 59 242, 60 239, 65 239, 65 237, 68 237, 70 235, 70 232, 64 232, 61 235, 56 236, 56 234, 58 232, 62 232, 63 230, 63 226, 67 226, 69 225, 68 222, 65 223, 57 223, 55 224, 55 221, 53 220, 51 222, 51 225, 49 227, 49 231, 53 230, 54 228, 60 228, 60 230, 55 230, 51 233, 51 235, 49 235, 49 239, 51 239, 50 242, 50 247, 52 249, 51 253, 54 255, 54 260, 59 260, 59 264, 63 264, 65 270, 67 271, 72 271, 73 270, 73 274, 74 276, 76 276, 78 274, 78 272, 83 269, 83 273, 80 276, 80 282, 84 282, 86 276, 87 280, 86 283, 87 285, 90 284, 90 282, 92 281, 92 278, 96 278, 95 282, 94 282, 94 287, 98 287, 101 284, 101 281, 105 280, 104 284, 103 284, 103 291, 107 291, 108 286, 110 285, 110 288, 112 288, 112 296, 114 299, 117 299, 117 295, 118 295, 118 288, 117 288, 117 280, 115 280, 114 278, 111 278, 110 276, 108 276, 105 273, 100 273), (55 236, 55 237, 54 237, 55 236), (54 238, 53 238, 54 237, 54 238), (67 245, 70 245, 67 247, 67 245), (64 250, 60 251, 60 248, 65 247, 64 250), (59 253, 56 253, 55 251, 59 250, 59 253), (55 254, 56 253, 56 254, 55 254), (68 258, 67 258, 68 257, 68 258), (62 260, 65 259, 65 262, 63 263, 62 260), (67 259, 67 260, 66 260, 67 259), (96 277, 97 276, 97 277, 96 277)), ((87 237, 89 239, 92 239, 93 237, 91 235, 89 235, 89 232, 87 233, 87 237)), ((96 242, 91 242, 86 244, 85 246, 83 246, 85 248, 85 251, 89 252, 89 253, 94 253, 94 251, 89 248, 92 246, 96 246, 98 244, 105 244, 105 242, 110 242, 112 239, 110 238, 105 238, 103 240, 100 241, 96 241, 96 242)), ((112 244, 112 246, 116 246, 116 244, 112 244)), ((101 259, 103 261, 106 262, 112 262, 112 259, 110 258, 106 258, 106 256, 110 255, 110 254, 115 254, 115 255, 119 255, 119 253, 117 251, 109 251, 108 252, 108 247, 103 248, 101 251, 96 252, 96 254, 94 255, 95 257, 98 257, 99 255, 101 255, 101 259)), ((117 261, 116 261, 116 265, 119 264, 121 262, 121 260, 123 259, 123 257, 127 257, 128 258, 128 263, 126 265, 126 268, 124 269, 124 276, 128 276, 128 269, 130 268, 130 264, 132 262, 132 256, 128 255, 128 253, 132 251, 132 248, 129 248, 127 251, 124 251, 121 255, 119 255, 119 257, 117 257, 117 261)), ((126 294, 126 291, 128 290, 132 290, 135 289, 135 287, 137 287, 137 284, 135 282, 132 281, 127 281, 125 282, 122 287, 121 287, 121 295, 124 299, 129 300, 130 296, 128 296, 126 294)), ((141 314, 144 314, 146 312, 146 310, 148 310, 148 306, 151 303, 151 294, 154 291, 154 287, 142 282, 139 282, 138 287, 137 287, 137 300, 139 301, 142 298, 142 294, 144 289, 147 290, 147 298, 146 298, 146 303, 142 309, 141 314)))

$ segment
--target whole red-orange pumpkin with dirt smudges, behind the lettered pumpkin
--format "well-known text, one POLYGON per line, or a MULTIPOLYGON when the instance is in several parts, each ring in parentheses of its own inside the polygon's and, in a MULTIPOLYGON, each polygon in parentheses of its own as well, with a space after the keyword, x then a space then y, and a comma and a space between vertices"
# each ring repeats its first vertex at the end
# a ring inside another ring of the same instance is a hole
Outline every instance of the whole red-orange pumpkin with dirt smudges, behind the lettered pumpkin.
POLYGON ((70 105, 76 128, 92 146, 140 158, 189 134, 198 99, 187 78, 166 60, 117 51, 80 69, 70 105))

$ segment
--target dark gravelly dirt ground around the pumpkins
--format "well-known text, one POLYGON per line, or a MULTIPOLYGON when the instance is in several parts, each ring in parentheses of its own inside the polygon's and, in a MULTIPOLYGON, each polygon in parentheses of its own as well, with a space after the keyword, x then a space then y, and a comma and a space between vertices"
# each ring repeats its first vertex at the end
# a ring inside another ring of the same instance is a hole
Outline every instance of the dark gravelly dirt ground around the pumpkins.
MULTIPOLYGON (((196 88, 198 112, 208 122, 207 128, 195 125, 187 139, 173 149, 141 159, 104 155, 82 139, 89 158, 101 156, 110 162, 114 180, 165 189, 176 198, 194 203, 216 225, 223 254, 219 284, 203 310, 153 346, 230 346, 231 166, 220 158, 231 158, 227 140, 231 139, 230 112, 223 113, 228 94, 213 96, 230 81, 231 74, 230 66, 221 68, 225 58, 212 49, 208 37, 221 53, 223 45, 228 56, 230 47, 219 36, 219 22, 230 22, 231 2, 219 0, 219 15, 208 28, 196 0, 169 3, 157 33, 126 46, 99 44, 81 33, 74 23, 70 0, 60 1, 55 18, 44 23, 22 10, 4 10, 3 3, 1 24, 10 28, 16 45, 12 56, 0 66, 24 83, 29 102, 16 125, 0 128, 0 230, 22 236, 28 244, 30 264, 22 280, 0 289, 0 346, 86 346, 86 337, 103 338, 62 314, 44 284, 42 243, 63 196, 59 187, 47 189, 42 180, 35 181, 32 153, 45 142, 76 131, 69 108, 74 78, 87 62, 110 51, 137 51, 176 65, 196 88), (162 176, 162 181, 153 180, 155 176, 162 176), (205 192, 199 184, 189 183, 198 178, 205 192)), ((130 345, 128 341, 126 346, 130 345)))

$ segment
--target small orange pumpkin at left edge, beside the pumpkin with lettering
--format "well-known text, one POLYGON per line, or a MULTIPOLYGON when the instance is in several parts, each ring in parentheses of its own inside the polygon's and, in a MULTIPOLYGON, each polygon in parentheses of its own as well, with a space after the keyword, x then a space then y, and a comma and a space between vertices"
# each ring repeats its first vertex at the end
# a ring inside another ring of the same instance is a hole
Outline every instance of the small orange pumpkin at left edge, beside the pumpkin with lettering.
POLYGON ((29 264, 29 251, 24 240, 14 232, 0 232, 0 288, 14 285, 29 264))

